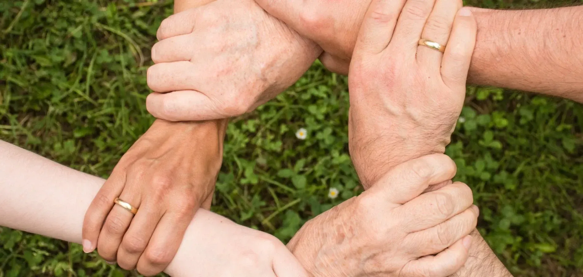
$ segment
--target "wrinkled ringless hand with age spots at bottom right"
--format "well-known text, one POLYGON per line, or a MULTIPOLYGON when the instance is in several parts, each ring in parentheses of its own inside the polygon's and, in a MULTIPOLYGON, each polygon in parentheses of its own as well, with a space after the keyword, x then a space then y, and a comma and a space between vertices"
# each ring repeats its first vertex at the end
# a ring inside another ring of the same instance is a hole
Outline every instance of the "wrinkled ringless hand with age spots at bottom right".
POLYGON ((472 190, 449 182, 422 192, 454 175, 443 154, 398 165, 360 196, 308 221, 288 248, 312 276, 453 274, 468 258, 477 223, 472 190))

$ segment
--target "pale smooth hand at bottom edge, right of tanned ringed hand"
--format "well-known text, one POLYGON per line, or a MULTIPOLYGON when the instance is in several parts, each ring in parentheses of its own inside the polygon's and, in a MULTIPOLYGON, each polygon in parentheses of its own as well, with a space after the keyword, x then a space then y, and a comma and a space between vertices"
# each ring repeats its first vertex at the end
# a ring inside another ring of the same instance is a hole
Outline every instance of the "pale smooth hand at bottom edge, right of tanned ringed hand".
POLYGON ((276 237, 204 210, 197 212, 164 272, 173 277, 307 277, 276 237))

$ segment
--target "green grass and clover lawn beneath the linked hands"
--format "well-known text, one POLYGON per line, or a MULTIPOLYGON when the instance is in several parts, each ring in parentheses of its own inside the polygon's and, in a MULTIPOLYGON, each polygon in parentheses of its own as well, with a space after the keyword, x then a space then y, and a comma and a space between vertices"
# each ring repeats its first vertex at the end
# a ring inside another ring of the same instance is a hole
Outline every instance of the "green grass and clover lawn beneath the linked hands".
MULTIPOLYGON (((153 121, 144 105, 149 48, 171 14, 171 2, 133 1, 0 2, 0 139, 107 177, 153 121)), ((233 120, 214 211, 285 241, 359 193, 347 111, 346 79, 315 64, 276 100, 233 120), (294 136, 300 127, 304 141, 294 136), (340 197, 329 199, 329 187, 340 197)), ((470 87, 462 116, 447 153, 475 191, 491 247, 517 276, 583 276, 582 106, 470 87)), ((0 276, 88 275, 138 274, 79 245, 0 228, 0 276)))

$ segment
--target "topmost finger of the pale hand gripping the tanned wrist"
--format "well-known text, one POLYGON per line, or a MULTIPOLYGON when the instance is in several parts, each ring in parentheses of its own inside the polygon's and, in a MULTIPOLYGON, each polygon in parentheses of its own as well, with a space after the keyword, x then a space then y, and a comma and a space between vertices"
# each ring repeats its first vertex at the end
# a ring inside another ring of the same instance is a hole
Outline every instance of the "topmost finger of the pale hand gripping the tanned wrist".
POLYGON ((203 8, 201 7, 188 9, 184 12, 168 16, 160 23, 156 37, 158 40, 165 40, 169 37, 192 33, 195 28, 196 19, 202 13, 203 8))

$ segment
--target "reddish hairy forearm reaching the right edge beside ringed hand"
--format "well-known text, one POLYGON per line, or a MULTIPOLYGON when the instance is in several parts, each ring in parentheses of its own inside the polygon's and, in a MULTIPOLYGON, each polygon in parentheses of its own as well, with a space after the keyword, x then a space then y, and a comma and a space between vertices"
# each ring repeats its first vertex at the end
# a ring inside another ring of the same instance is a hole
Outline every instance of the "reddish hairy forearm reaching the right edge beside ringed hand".
POLYGON ((476 9, 469 81, 583 102, 583 6, 476 9))

